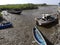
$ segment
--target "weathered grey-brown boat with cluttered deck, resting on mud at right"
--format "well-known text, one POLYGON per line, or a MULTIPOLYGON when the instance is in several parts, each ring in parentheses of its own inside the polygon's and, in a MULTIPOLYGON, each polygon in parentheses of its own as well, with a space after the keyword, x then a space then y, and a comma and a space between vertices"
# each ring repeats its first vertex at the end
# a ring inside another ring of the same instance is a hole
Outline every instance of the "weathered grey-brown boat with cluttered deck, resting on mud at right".
POLYGON ((58 24, 58 17, 52 14, 43 14, 42 17, 36 18, 36 24, 39 26, 47 26, 52 23, 58 24))

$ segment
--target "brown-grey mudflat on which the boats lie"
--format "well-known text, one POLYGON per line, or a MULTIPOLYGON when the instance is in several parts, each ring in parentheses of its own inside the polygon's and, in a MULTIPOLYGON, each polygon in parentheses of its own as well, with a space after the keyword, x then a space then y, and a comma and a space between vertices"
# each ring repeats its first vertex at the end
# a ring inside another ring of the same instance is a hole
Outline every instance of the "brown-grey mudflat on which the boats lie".
MULTIPOLYGON (((35 26, 35 17, 41 17, 41 14, 57 13, 57 6, 43 6, 34 10, 23 10, 20 15, 9 14, 8 20, 13 23, 13 28, 0 30, 0 45, 32 45, 32 29, 35 26)), ((55 25, 49 29, 39 27, 43 35, 52 43, 59 44, 58 26, 55 25)), ((33 44, 37 45, 37 44, 33 44)))

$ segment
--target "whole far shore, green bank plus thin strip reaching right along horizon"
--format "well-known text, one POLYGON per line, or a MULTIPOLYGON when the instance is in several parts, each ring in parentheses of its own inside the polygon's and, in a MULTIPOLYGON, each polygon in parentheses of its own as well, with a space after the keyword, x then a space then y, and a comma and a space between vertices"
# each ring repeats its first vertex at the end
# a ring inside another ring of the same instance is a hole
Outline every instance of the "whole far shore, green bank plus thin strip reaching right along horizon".
POLYGON ((11 9, 18 9, 18 10, 29 10, 29 9, 37 9, 38 6, 57 6, 57 5, 48 5, 48 4, 8 4, 8 5, 0 5, 1 10, 11 10, 11 9))

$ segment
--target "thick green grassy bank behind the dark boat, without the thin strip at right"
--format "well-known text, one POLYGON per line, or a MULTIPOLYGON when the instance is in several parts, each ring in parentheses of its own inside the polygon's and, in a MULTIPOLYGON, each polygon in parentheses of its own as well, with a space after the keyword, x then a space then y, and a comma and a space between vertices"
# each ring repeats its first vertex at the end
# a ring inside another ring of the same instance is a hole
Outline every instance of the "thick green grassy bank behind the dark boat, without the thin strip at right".
POLYGON ((36 9, 38 8, 34 4, 11 4, 11 5, 0 5, 0 9, 36 9))

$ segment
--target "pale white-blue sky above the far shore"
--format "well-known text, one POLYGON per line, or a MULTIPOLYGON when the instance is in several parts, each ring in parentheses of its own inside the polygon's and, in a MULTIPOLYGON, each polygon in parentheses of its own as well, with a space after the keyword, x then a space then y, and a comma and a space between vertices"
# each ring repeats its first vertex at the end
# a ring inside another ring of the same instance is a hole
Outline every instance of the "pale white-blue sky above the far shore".
POLYGON ((58 5, 60 0, 0 0, 0 5, 6 4, 24 4, 24 3, 34 3, 34 4, 53 4, 58 5))

